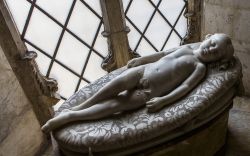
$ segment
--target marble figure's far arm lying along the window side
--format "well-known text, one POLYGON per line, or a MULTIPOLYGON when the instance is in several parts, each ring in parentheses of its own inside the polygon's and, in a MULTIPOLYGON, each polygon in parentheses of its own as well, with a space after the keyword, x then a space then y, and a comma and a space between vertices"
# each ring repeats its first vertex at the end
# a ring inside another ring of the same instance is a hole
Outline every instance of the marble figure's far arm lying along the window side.
POLYGON ((140 66, 140 65, 144 65, 144 64, 148 64, 148 63, 158 61, 160 58, 162 58, 162 57, 176 51, 180 47, 172 48, 172 49, 169 49, 169 50, 164 51, 164 52, 157 52, 155 54, 148 55, 148 56, 134 58, 134 59, 128 61, 127 67, 132 68, 132 67, 137 67, 137 66, 140 66))

